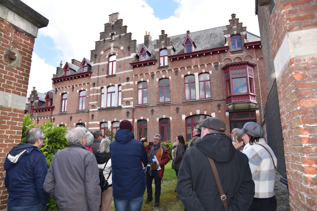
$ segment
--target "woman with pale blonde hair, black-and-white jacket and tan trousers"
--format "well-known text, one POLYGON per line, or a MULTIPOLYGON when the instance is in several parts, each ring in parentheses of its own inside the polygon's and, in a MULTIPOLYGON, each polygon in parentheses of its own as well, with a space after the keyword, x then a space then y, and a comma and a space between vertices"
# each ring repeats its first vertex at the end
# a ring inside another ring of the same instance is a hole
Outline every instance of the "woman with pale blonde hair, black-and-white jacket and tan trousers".
POLYGON ((100 142, 98 151, 94 154, 98 168, 103 169, 103 175, 106 180, 108 180, 109 186, 107 190, 104 190, 101 193, 101 206, 100 211, 110 211, 112 203, 112 174, 111 174, 111 156, 110 156, 110 141, 107 138, 104 138, 100 142))

